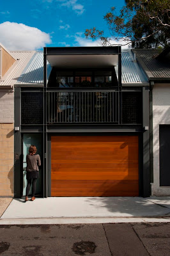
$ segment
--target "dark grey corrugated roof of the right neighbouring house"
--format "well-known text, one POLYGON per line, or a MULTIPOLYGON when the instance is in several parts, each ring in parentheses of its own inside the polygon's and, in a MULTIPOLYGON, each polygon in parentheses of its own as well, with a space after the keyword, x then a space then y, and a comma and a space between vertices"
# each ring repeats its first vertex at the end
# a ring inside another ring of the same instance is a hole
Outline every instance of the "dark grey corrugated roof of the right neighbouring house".
POLYGON ((170 78, 170 63, 157 60, 159 51, 156 49, 135 49, 137 60, 148 75, 153 78, 170 78))

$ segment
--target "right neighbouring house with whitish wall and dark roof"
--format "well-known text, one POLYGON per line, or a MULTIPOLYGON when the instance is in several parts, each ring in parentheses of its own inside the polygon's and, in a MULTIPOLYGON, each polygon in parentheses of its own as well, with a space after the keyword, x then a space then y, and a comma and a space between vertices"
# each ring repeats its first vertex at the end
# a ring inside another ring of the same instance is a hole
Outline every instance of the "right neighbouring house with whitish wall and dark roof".
POLYGON ((151 194, 170 195, 170 47, 133 52, 150 82, 151 194))

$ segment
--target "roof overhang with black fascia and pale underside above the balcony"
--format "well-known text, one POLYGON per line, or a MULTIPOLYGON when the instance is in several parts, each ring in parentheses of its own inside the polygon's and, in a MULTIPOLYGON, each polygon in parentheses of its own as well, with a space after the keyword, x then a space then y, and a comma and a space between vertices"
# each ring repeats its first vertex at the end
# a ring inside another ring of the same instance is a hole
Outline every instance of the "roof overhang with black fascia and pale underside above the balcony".
POLYGON ((118 65, 121 47, 44 47, 43 52, 51 67, 107 68, 118 65))

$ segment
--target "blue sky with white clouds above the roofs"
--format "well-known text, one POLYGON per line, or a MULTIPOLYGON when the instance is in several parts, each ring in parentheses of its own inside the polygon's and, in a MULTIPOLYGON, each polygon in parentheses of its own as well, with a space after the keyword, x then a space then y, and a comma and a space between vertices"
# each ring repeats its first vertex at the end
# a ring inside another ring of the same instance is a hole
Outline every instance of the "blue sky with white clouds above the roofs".
POLYGON ((112 6, 119 13, 124 4, 124 0, 1 0, 0 42, 10 51, 101 45, 86 39, 85 30, 96 27, 109 36, 104 15, 112 6))

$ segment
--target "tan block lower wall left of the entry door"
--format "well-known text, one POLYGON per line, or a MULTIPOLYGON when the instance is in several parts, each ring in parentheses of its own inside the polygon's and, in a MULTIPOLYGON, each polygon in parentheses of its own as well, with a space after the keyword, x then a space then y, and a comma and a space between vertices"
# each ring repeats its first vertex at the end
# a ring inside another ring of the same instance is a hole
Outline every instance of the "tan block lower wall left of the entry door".
POLYGON ((13 196, 14 124, 0 124, 0 196, 13 196))

